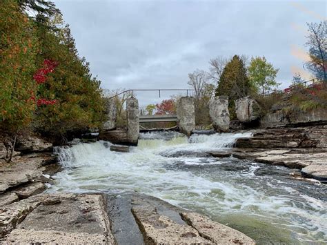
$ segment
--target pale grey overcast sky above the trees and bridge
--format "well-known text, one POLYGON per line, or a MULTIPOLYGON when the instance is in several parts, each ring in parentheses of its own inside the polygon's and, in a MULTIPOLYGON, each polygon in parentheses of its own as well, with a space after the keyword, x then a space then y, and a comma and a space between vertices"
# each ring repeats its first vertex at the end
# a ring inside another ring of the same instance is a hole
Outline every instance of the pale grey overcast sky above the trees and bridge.
MULTIPOLYGON (((108 89, 188 88, 189 72, 232 55, 264 55, 285 88, 303 70, 306 22, 326 19, 326 1, 311 0, 54 3, 92 75, 108 89)), ((155 92, 137 95, 141 105, 161 100, 155 92)))

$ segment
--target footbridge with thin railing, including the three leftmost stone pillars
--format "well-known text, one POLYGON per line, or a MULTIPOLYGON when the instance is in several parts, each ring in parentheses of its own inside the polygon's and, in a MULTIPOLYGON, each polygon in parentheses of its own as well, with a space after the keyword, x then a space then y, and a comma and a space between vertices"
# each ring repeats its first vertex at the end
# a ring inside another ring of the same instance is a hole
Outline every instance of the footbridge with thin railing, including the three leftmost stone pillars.
MULTIPOLYGON (((126 90, 117 95, 107 98, 106 117, 103 124, 103 132, 99 138, 111 141, 114 144, 137 145, 139 139, 140 124, 176 121, 181 133, 190 135, 195 130, 195 103, 191 92, 192 89, 146 89, 146 90, 126 90), (161 97, 161 91, 185 92, 186 96, 181 96, 176 103, 175 115, 142 115, 139 110, 139 101, 135 97, 135 91, 157 91, 161 97), (127 94, 124 95, 124 94, 127 94), (116 128, 117 120, 117 97, 125 96, 126 101, 126 128, 116 128), (116 99, 115 99, 116 98, 116 99)), ((141 127, 142 128, 142 127, 141 127)))

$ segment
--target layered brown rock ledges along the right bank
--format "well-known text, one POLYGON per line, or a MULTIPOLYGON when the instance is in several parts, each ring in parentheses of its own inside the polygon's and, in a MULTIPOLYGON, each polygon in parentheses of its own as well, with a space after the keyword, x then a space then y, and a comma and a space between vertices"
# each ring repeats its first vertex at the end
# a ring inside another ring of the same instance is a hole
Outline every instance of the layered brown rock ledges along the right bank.
POLYGON ((299 168, 304 177, 327 182, 327 126, 258 130, 237 139, 232 156, 299 168))

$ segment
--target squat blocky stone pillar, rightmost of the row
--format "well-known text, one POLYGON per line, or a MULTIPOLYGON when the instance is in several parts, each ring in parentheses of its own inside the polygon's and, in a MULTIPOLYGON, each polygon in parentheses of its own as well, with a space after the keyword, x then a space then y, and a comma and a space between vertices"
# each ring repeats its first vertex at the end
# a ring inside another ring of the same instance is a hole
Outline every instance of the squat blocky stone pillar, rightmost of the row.
POLYGON ((254 99, 244 97, 235 100, 235 110, 237 119, 241 122, 248 123, 259 119, 261 108, 254 99))

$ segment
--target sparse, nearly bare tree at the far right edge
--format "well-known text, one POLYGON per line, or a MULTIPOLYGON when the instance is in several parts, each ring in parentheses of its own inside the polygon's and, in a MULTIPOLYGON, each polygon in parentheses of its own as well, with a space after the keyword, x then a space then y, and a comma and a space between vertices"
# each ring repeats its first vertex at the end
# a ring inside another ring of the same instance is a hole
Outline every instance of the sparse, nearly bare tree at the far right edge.
POLYGON ((309 35, 306 46, 309 47, 308 68, 316 77, 327 81, 327 21, 307 23, 309 35))

